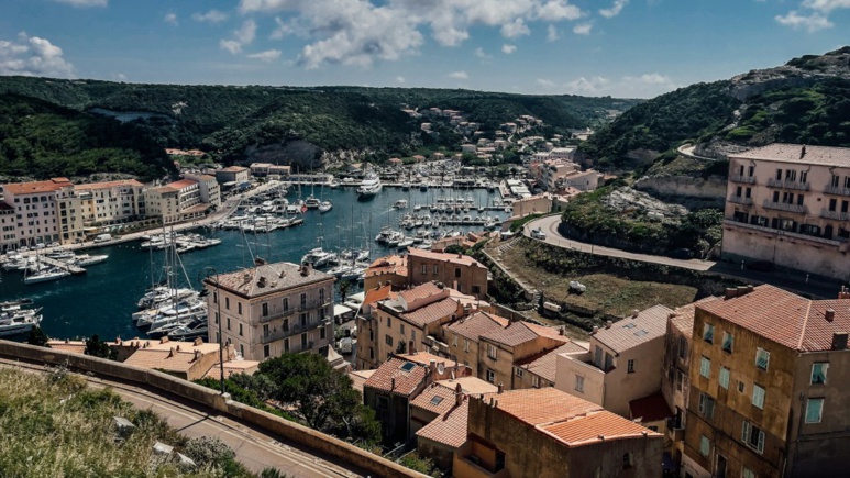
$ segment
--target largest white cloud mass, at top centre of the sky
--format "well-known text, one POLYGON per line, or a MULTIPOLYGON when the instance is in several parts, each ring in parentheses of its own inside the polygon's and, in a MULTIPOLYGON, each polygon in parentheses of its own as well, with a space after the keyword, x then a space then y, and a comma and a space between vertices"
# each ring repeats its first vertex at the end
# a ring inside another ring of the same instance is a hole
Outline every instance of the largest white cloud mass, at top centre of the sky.
POLYGON ((530 22, 586 15, 570 0, 240 0, 239 11, 283 13, 271 37, 308 38, 299 57, 307 68, 327 63, 368 66, 416 55, 426 30, 439 45, 456 46, 476 26, 516 38, 530 34, 530 22))

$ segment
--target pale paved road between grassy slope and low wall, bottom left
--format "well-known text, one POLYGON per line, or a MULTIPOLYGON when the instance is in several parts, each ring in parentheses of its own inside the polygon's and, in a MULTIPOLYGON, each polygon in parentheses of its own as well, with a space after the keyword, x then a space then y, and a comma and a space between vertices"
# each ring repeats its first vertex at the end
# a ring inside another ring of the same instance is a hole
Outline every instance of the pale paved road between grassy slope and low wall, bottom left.
MULTIPOLYGON (((31 373, 46 373, 37 365, 0 359, 0 367, 18 368, 31 373)), ((329 462, 323 455, 309 449, 282 443, 275 435, 257 430, 213 410, 200 409, 197 403, 136 386, 80 375, 90 387, 110 387, 122 399, 140 410, 151 410, 188 437, 217 436, 236 453, 236 459, 250 470, 260 473, 266 467, 277 468, 292 477, 360 477, 363 470, 347 464, 329 462)))

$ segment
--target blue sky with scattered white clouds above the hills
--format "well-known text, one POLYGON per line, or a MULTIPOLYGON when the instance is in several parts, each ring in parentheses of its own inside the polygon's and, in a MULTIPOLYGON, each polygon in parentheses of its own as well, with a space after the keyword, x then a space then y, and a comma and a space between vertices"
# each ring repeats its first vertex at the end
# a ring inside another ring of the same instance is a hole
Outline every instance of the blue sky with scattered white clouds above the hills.
POLYGON ((0 0, 0 75, 652 98, 850 44, 850 0, 0 0))

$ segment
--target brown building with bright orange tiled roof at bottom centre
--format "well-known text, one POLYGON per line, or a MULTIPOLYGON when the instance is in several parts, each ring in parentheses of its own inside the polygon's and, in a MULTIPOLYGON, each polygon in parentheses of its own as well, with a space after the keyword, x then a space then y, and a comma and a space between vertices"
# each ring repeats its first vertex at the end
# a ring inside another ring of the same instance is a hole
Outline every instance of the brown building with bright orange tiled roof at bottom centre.
POLYGON ((470 398, 452 474, 467 477, 659 477, 663 436, 554 388, 470 398))

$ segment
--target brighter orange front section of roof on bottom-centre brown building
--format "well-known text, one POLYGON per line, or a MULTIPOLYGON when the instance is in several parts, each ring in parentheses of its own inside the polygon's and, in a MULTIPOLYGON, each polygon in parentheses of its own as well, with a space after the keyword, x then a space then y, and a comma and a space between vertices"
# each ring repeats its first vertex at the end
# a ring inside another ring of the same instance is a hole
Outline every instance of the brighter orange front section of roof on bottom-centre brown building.
POLYGON ((567 446, 582 446, 603 441, 639 438, 647 436, 662 438, 663 435, 653 432, 639 423, 623 419, 609 411, 588 413, 563 422, 540 427, 567 446))

